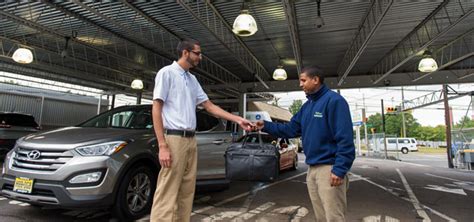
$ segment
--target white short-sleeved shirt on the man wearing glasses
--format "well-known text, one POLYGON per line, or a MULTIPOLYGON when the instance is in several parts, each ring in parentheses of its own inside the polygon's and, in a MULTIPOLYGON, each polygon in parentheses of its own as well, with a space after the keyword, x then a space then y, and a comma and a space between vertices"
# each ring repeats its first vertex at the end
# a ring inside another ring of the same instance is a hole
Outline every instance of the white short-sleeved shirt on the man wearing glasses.
POLYGON ((175 130, 195 130, 196 106, 209 100, 196 77, 176 61, 156 74, 155 99, 163 101, 164 128, 175 130))

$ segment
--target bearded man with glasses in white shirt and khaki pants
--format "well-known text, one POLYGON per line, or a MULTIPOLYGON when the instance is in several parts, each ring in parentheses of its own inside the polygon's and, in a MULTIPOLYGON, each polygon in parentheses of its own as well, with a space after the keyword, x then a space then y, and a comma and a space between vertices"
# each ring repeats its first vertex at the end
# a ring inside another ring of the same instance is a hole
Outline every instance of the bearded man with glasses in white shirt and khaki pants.
POLYGON ((214 105, 189 72, 201 61, 199 42, 184 39, 177 50, 178 61, 158 71, 153 91, 153 126, 161 170, 153 198, 152 222, 190 221, 197 173, 197 105, 218 118, 238 123, 244 130, 254 127, 250 121, 214 105))

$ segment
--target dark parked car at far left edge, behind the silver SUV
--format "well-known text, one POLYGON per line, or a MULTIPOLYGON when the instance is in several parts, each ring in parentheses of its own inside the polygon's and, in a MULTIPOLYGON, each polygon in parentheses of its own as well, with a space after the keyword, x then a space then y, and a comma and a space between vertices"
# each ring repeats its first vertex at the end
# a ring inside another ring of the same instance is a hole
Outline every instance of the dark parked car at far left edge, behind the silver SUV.
POLYGON ((35 133, 39 130, 38 123, 32 115, 0 112, 0 158, 13 149, 18 138, 35 133))

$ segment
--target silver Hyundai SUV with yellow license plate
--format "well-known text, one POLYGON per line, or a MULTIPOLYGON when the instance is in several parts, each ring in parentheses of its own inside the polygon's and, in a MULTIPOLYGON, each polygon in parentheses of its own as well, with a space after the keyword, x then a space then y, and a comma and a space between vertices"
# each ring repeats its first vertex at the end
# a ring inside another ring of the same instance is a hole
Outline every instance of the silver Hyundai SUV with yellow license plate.
MULTIPOLYGON (((226 184, 230 124, 197 112, 198 187, 226 184)), ((160 170, 151 105, 123 106, 78 126, 20 138, 7 154, 1 193, 33 205, 111 207, 122 220, 150 210, 160 170)))

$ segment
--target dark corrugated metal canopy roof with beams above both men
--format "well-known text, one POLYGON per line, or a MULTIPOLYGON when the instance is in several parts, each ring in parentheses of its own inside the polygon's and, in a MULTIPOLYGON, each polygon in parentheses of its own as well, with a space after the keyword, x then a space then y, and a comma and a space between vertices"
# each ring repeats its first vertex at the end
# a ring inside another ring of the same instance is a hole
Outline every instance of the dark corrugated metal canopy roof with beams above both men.
POLYGON ((299 90, 298 73, 313 64, 331 88, 474 81, 472 1, 323 1, 320 28, 316 1, 247 5, 258 31, 238 37, 231 25, 242 2, 4 1, 0 70, 110 93, 132 93, 140 78, 149 96, 157 70, 177 59, 178 41, 192 37, 204 54, 193 72, 217 99, 299 90), (33 50, 33 63, 11 59, 20 46, 33 50), (441 71, 418 72, 427 49, 441 71), (279 64, 286 81, 271 78, 279 64))

